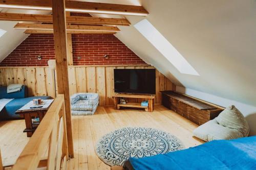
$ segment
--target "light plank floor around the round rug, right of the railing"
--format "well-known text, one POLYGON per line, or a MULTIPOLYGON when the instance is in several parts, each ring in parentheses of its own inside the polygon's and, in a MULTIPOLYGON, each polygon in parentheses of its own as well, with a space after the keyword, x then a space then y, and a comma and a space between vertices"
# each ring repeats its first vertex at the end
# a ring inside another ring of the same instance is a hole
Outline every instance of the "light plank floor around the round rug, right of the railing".
POLYGON ((94 115, 73 116, 72 121, 75 158, 68 161, 68 169, 109 170, 110 166, 97 157, 95 145, 104 134, 123 127, 151 127, 164 130, 178 137, 186 148, 203 142, 194 138, 192 134, 198 125, 161 105, 156 105, 152 113, 144 110, 98 107, 94 115))

